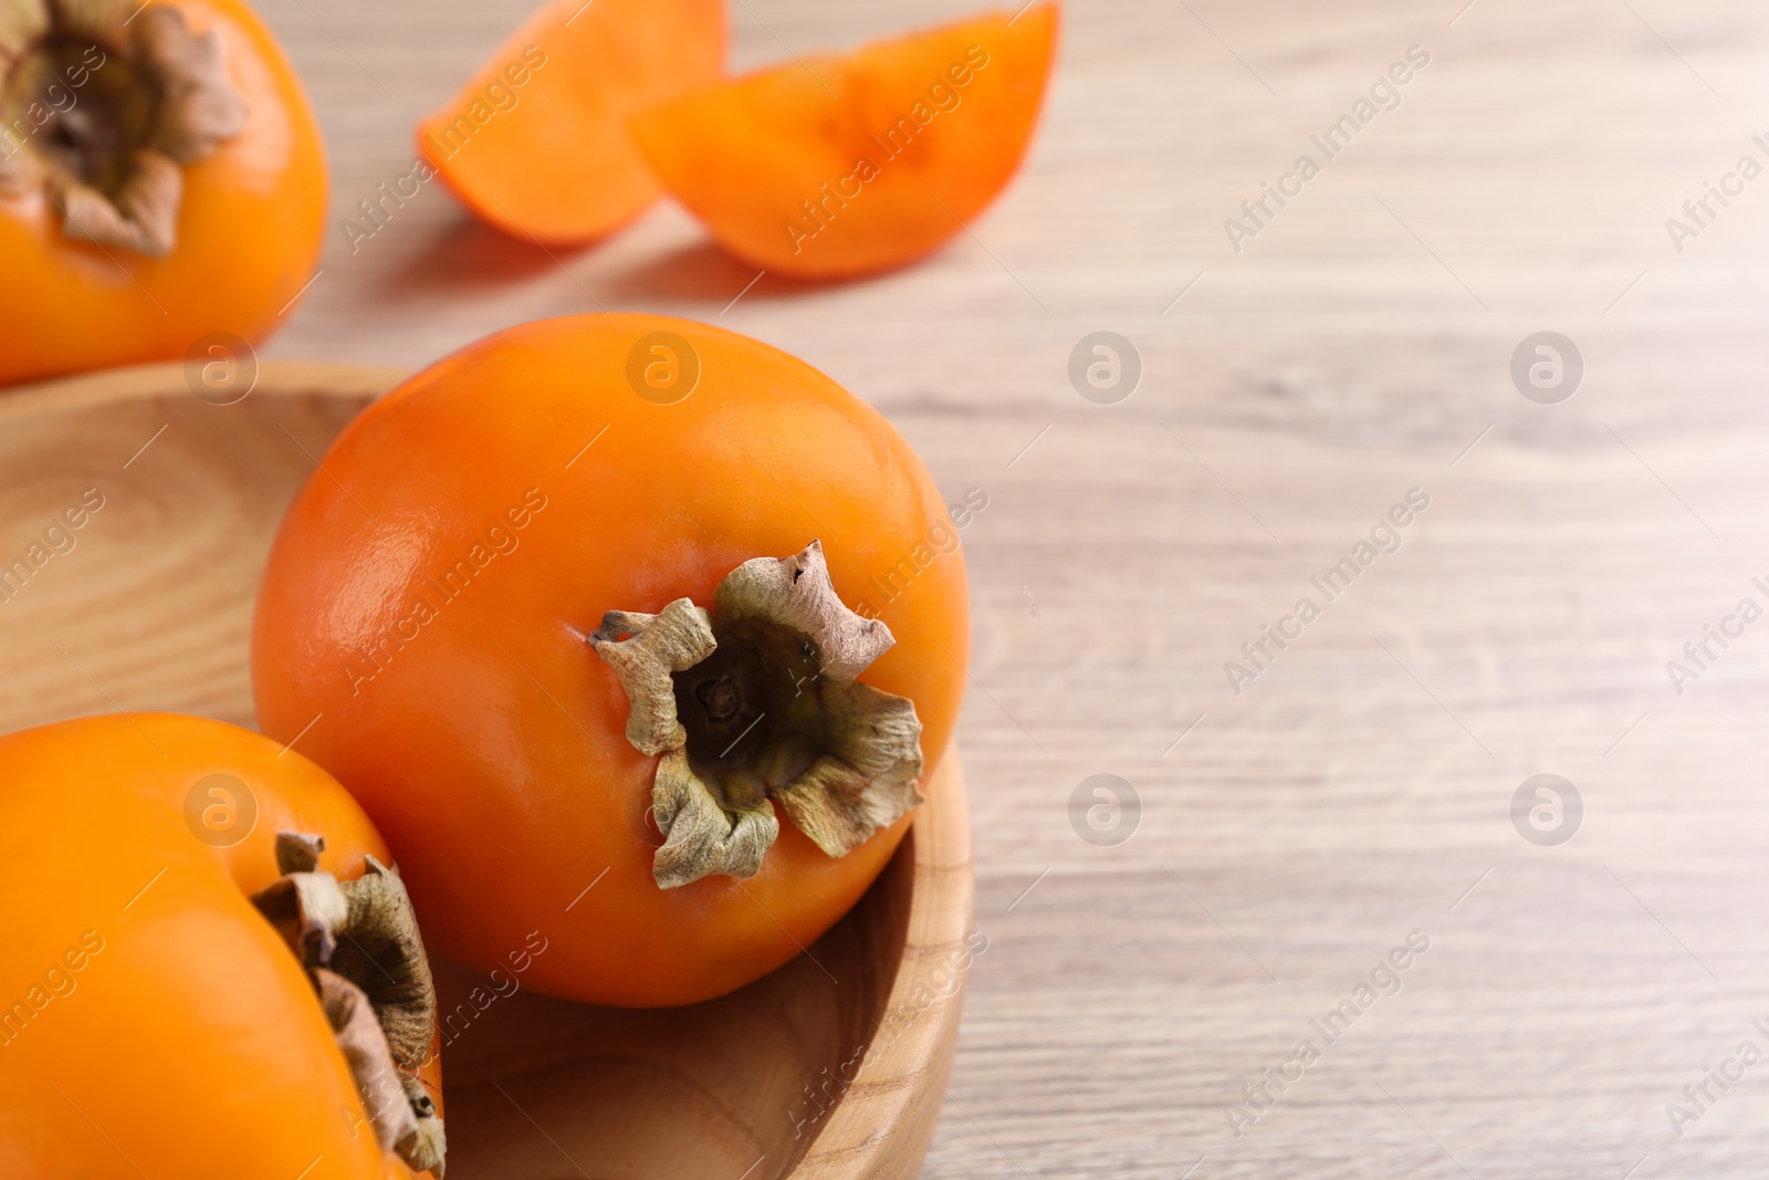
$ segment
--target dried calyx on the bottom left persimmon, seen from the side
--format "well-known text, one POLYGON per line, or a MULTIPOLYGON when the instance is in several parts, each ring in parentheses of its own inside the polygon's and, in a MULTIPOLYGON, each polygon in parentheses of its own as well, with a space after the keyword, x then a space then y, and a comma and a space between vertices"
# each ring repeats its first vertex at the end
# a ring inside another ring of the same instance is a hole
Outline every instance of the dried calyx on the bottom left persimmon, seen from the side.
POLYGON ((380 1148, 440 1176, 442 1120, 417 1079, 435 1037, 437 994, 412 899, 398 867, 373 856, 356 881, 320 872, 324 849, 322 837, 278 831, 283 876, 251 902, 306 968, 380 1148))

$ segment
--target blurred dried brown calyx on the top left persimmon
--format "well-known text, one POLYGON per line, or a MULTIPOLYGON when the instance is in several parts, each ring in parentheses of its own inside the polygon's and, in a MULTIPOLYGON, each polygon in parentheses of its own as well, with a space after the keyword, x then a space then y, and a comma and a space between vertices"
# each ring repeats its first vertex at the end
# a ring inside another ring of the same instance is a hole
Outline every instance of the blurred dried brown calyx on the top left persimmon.
POLYGON ((42 191, 69 237, 165 257, 184 166, 246 126, 221 41, 140 0, 0 0, 0 195, 42 191))

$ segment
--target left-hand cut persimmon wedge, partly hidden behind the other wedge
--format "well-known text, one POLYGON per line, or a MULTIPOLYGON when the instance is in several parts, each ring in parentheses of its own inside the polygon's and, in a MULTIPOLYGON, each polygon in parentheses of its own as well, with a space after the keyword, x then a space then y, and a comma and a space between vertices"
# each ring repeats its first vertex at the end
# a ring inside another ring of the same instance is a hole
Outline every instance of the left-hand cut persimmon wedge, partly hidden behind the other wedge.
POLYGON ((417 126, 417 150, 499 230, 591 242, 662 191, 628 117, 716 81, 724 57, 724 0, 557 0, 417 126))

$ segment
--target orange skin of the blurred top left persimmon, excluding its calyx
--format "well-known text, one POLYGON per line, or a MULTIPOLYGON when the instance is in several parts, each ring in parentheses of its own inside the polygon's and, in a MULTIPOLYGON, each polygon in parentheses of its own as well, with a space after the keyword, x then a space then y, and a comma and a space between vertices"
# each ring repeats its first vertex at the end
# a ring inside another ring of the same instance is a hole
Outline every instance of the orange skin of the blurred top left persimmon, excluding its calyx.
POLYGON ((313 274, 325 157, 294 69, 241 0, 175 7, 219 35, 246 127, 184 168, 179 241, 165 258, 67 237, 41 186, 0 195, 0 386, 177 359, 209 333, 260 343, 313 274))

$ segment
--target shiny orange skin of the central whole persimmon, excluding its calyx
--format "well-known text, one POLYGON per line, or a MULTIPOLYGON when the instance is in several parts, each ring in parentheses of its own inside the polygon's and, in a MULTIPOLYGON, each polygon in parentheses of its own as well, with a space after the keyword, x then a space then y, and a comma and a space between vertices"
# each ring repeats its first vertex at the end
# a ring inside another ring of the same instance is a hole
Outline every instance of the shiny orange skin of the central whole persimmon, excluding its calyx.
POLYGON ((324 472, 258 591, 258 718, 272 736, 320 718, 301 748, 387 835, 442 954, 486 969, 540 929, 536 991, 693 1003, 798 955, 883 869, 907 817, 835 860, 782 814, 757 876, 660 890, 655 759, 628 745, 626 695, 586 644, 605 610, 711 607, 743 561, 821 538, 844 601, 897 637, 862 681, 915 701, 930 773, 964 686, 964 563, 929 547, 957 538, 939 490, 863 402, 745 336, 584 315, 414 377, 345 428, 324 472), (674 405, 626 384, 655 331, 701 359, 674 405), (485 564, 444 598, 428 580, 463 559, 485 564), (874 579, 902 561, 886 600, 874 579))

